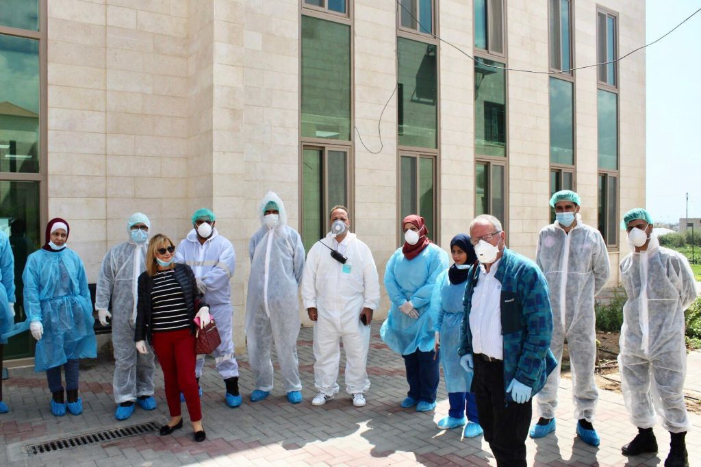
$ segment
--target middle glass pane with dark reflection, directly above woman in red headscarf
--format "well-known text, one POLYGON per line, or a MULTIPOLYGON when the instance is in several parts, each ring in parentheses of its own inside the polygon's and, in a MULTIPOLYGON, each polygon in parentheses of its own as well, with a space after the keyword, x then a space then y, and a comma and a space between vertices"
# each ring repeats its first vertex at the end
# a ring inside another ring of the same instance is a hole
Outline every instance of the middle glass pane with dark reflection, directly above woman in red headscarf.
POLYGON ((397 133, 401 146, 437 147, 436 46, 397 37, 397 133))

